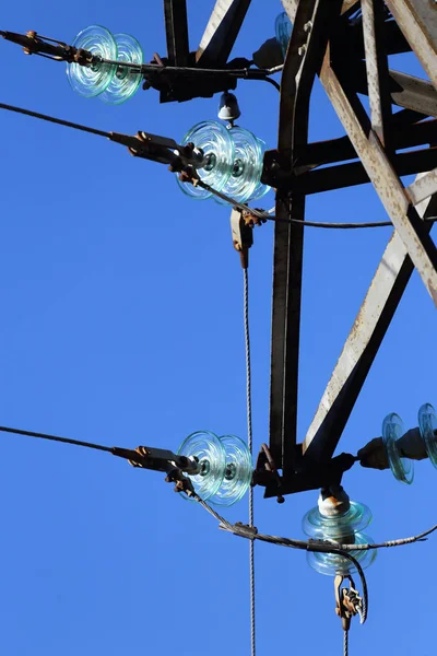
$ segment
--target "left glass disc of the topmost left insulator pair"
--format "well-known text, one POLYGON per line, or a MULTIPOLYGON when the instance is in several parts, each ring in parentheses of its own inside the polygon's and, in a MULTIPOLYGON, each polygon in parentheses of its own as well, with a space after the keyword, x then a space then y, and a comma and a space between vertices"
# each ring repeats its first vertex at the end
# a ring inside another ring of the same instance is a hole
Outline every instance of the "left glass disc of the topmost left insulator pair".
MULTIPOLYGON (((111 33, 101 25, 82 30, 72 44, 104 59, 117 60, 117 45, 111 33)), ((82 96, 92 98, 103 93, 111 83, 116 66, 96 63, 91 67, 79 63, 67 65, 67 77, 71 87, 82 96)))

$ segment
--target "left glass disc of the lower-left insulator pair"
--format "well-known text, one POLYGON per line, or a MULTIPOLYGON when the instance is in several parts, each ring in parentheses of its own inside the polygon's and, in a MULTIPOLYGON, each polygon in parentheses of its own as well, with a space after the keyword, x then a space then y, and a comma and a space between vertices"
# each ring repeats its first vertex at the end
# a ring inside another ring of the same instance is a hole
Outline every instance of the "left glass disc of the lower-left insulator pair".
POLYGON ((209 431, 192 433, 180 445, 178 455, 198 460, 200 472, 187 476, 199 496, 206 501, 215 494, 226 468, 226 452, 218 437, 209 431))

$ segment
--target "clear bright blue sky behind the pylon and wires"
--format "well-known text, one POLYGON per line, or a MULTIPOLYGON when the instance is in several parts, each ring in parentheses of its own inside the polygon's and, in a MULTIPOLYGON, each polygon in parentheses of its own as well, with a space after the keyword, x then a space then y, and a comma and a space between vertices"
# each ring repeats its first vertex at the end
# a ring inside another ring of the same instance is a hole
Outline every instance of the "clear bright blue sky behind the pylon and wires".
MULTIPOLYGON (((194 48, 212 0, 188 2, 194 48)), ((235 47, 250 56, 273 35, 279 1, 253 7, 235 47)), ((133 34, 146 59, 165 55, 161 0, 22 0, 2 10, 2 30, 36 30, 71 42, 92 23, 133 34)), ((0 44, 1 102, 101 129, 143 129, 179 139, 215 118, 217 98, 160 106, 140 91, 122 106, 70 90, 64 65, 0 44)), ((393 66, 412 68, 402 57, 393 66)), ((241 82, 240 124, 272 148, 276 91, 241 82)), ((176 449, 196 430, 246 436, 243 281, 228 210, 185 197, 165 166, 121 147, 2 113, 0 258, 1 423, 107 445, 176 449)), ((317 86, 312 139, 342 128, 317 86)), ((273 199, 267 197, 265 207, 273 199)), ((369 186, 308 199, 308 219, 385 220, 369 186)), ((253 438, 268 441, 273 226, 251 250, 253 438)), ((302 314, 299 440, 340 353, 390 229, 308 229, 302 314)), ((416 425, 437 403, 435 311, 413 276, 341 443, 356 453, 398 411, 416 425)), ((248 544, 217 530, 154 472, 110 455, 1 436, 0 649, 5 656, 237 656, 249 653, 248 544)), ((350 496, 374 513, 377 540, 436 522, 437 471, 416 465, 414 484, 356 466, 350 496)), ((279 506, 256 489, 256 524, 303 537, 317 492, 279 506)), ((247 519, 247 499, 226 512, 247 519)), ((430 656, 435 642, 434 558, 427 543, 379 553, 367 571, 368 623, 351 654, 430 656)), ((258 653, 340 655, 332 579, 305 554, 257 544, 258 653)))

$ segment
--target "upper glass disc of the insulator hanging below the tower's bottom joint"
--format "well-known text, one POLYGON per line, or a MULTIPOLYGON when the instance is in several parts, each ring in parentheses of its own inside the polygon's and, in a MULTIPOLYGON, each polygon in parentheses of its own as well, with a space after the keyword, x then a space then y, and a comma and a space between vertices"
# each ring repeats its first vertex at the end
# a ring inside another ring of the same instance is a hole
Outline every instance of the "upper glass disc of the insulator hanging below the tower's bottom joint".
POLYGON ((370 522, 370 508, 364 503, 351 501, 345 513, 330 517, 322 515, 317 506, 311 508, 304 515, 302 528, 310 538, 335 540, 363 530, 370 522))

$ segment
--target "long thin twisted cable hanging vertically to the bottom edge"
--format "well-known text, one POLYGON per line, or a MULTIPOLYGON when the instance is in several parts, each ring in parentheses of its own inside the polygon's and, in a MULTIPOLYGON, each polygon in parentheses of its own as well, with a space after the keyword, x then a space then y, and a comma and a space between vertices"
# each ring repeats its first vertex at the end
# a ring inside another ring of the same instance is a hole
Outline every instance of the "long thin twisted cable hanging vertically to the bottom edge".
MULTIPOLYGON (((245 345, 246 345, 246 398, 247 398, 247 445, 252 456, 252 391, 250 366, 250 332, 249 332, 249 272, 243 269, 244 276, 244 316, 245 316, 245 345)), ((253 526, 253 488, 249 488, 249 527, 253 526)), ((250 653, 256 656, 256 626, 255 626, 255 540, 249 542, 249 570, 250 570, 250 653)))

